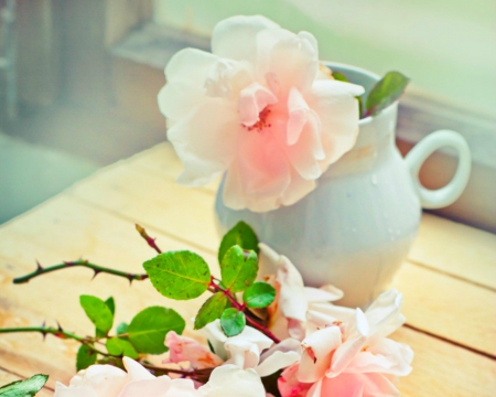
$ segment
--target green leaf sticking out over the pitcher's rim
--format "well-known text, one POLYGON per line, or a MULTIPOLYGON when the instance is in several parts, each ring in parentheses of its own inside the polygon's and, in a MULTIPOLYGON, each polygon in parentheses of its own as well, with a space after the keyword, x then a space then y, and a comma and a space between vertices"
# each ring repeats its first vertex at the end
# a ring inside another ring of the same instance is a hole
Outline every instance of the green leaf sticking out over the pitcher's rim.
POLYGON ((367 115, 375 116, 395 103, 409 82, 410 78, 399 72, 388 72, 368 94, 367 115))

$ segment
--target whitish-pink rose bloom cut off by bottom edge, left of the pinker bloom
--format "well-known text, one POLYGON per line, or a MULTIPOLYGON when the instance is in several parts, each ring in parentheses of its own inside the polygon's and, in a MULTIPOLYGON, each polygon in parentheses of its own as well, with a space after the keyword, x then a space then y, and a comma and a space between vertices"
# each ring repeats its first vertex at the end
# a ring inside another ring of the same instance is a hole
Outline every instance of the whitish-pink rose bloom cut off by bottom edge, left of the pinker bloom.
POLYGON ((79 371, 69 386, 56 384, 54 397, 266 397, 260 376, 236 365, 215 368, 209 380, 195 389, 191 379, 154 377, 128 357, 123 364, 127 373, 110 365, 79 371))

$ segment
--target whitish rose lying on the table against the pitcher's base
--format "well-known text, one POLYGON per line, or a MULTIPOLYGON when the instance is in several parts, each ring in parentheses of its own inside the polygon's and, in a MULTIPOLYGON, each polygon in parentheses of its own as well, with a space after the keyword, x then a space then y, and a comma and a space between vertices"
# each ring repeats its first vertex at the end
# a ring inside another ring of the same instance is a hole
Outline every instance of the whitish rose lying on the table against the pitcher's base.
POLYGON ((309 330, 316 328, 313 321, 323 326, 337 320, 327 315, 325 310, 338 308, 330 302, 343 298, 343 291, 333 286, 305 287, 300 272, 285 256, 263 243, 259 244, 259 248, 261 260, 269 260, 276 271, 273 283, 277 297, 268 310, 269 328, 278 337, 302 341, 309 330), (322 321, 325 322, 321 324, 322 321))

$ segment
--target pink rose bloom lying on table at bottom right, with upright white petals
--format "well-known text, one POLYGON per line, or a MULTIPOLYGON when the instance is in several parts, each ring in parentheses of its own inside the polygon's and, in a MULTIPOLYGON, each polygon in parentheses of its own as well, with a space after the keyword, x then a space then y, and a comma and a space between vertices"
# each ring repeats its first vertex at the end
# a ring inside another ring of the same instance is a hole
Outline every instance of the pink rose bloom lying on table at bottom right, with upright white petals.
POLYGON ((335 323, 311 333, 302 342, 301 362, 284 371, 279 387, 283 397, 392 397, 398 376, 411 372, 413 352, 388 337, 405 323, 402 296, 382 293, 355 321, 335 323), (296 374, 296 379, 290 378, 296 374), (310 386, 310 387, 309 387, 310 386))

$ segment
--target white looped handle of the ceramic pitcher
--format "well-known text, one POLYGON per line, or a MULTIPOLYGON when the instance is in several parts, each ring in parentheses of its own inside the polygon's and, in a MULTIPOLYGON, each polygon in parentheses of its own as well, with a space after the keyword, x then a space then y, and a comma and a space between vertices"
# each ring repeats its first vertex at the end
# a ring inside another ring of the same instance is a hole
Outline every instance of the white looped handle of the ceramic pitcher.
POLYGON ((466 140, 457 132, 451 130, 439 130, 429 133, 406 155, 405 160, 410 169, 413 185, 419 194, 423 208, 441 208, 452 204, 460 197, 465 189, 471 174, 471 151, 466 140), (456 172, 444 187, 429 190, 422 186, 419 180, 419 171, 429 155, 440 148, 451 147, 459 153, 459 165, 456 172))

